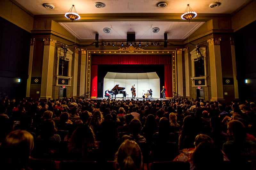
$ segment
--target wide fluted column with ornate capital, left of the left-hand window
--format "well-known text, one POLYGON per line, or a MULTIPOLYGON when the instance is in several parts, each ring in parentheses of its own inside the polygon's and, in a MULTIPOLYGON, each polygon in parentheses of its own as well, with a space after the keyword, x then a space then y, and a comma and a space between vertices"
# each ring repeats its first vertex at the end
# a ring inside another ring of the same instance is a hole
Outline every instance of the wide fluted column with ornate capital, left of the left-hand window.
POLYGON ((55 43, 51 38, 44 38, 44 57, 42 69, 41 96, 42 99, 52 98, 53 62, 55 43))

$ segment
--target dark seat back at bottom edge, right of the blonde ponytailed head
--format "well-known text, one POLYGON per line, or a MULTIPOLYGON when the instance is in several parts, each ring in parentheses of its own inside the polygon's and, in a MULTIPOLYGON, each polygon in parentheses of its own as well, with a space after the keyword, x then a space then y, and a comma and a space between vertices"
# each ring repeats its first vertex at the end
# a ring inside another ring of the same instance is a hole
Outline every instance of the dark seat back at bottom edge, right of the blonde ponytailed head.
POLYGON ((151 170, 190 170, 189 162, 182 161, 165 161, 153 162, 150 165, 151 170))

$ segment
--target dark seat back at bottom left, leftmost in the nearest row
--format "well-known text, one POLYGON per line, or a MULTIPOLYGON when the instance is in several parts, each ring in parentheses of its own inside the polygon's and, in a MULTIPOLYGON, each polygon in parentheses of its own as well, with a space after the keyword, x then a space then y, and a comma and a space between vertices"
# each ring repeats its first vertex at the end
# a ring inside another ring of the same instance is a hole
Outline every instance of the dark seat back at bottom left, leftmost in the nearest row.
POLYGON ((36 170, 55 170, 56 163, 53 160, 46 159, 29 159, 28 166, 36 170))

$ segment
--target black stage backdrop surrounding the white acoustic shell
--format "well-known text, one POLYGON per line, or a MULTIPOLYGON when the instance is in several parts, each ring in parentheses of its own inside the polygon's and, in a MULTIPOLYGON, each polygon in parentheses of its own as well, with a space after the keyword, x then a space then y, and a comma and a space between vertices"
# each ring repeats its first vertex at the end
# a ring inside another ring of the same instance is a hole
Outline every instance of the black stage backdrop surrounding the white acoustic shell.
MULTIPOLYGON (((107 72, 117 73, 147 73, 156 72, 160 79, 160 86, 164 85, 164 65, 162 64, 148 64, 148 65, 130 65, 130 64, 119 64, 119 65, 98 65, 98 97, 102 97, 103 94, 103 80, 107 72)), ((109 89, 111 90, 111 89, 109 89)), ((125 89, 124 91, 130 92, 131 89, 125 89)))

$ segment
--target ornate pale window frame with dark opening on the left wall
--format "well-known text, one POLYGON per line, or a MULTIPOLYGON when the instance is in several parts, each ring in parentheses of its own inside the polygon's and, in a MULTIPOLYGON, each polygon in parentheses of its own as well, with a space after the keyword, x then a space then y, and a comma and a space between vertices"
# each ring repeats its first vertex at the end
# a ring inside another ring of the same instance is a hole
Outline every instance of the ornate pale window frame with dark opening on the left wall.
POLYGON ((71 66, 73 52, 68 48, 65 59, 60 58, 60 56, 64 55, 64 50, 62 50, 62 48, 59 47, 57 53, 56 85, 71 86, 71 66))

